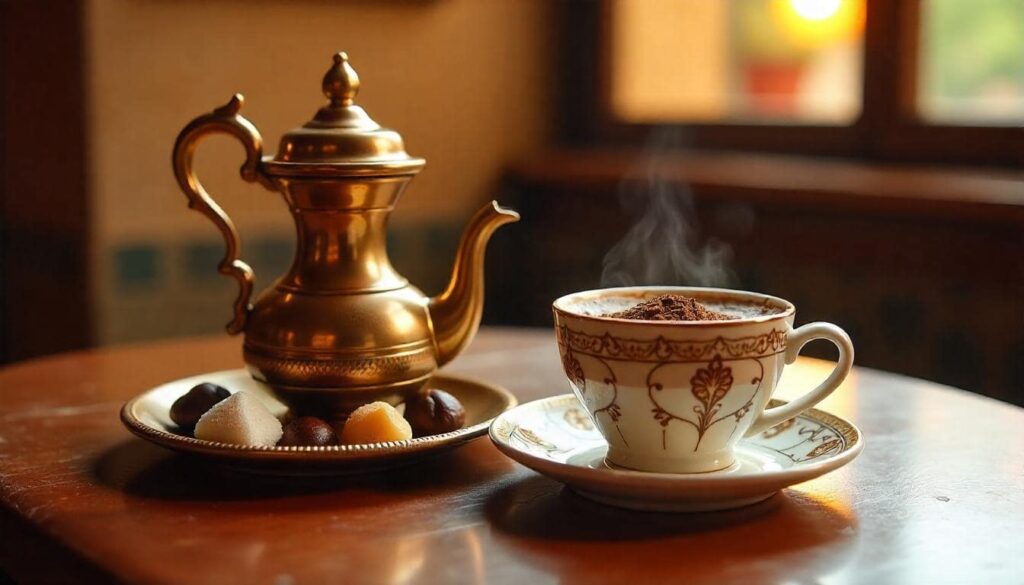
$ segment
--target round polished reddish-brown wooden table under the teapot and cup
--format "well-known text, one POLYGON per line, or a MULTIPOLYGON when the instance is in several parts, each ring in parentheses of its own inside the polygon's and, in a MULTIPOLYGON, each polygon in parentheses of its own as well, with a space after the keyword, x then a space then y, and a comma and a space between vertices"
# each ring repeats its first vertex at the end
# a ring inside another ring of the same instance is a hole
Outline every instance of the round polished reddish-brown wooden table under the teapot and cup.
MULTIPOLYGON (((0 372, 0 567, 25 583, 1024 583, 1024 410, 968 392, 856 370, 823 408, 863 430, 859 459, 749 508, 673 515, 591 503, 486 438, 295 482, 121 427, 133 394, 239 360, 217 337, 0 372)), ((780 394, 828 368, 802 360, 780 394)), ((548 331, 482 331, 451 370, 521 402, 566 391, 548 331)))

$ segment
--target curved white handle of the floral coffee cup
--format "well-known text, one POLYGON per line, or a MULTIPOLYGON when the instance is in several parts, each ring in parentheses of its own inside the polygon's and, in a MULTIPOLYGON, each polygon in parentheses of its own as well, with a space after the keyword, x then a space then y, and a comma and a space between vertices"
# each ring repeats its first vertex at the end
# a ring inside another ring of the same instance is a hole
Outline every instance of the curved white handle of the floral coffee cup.
POLYGON ((771 428, 776 424, 788 420, 805 410, 823 401, 825 396, 833 393, 839 387, 850 368, 853 367, 853 342, 845 331, 830 323, 808 323, 790 331, 785 336, 785 363, 793 364, 800 354, 800 350, 808 341, 814 339, 827 339, 839 348, 839 363, 836 369, 816 388, 800 396, 799 399, 773 409, 767 409, 754 421, 746 436, 757 434, 763 430, 771 428))

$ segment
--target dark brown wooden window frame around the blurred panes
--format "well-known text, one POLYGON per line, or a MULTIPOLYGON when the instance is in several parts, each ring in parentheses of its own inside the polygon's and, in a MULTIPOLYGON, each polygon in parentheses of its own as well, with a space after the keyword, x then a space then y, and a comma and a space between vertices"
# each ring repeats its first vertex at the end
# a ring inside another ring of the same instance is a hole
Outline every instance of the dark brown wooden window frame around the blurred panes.
POLYGON ((655 127, 695 149, 909 163, 1024 165, 1024 126, 930 123, 915 115, 921 0, 865 0, 861 114, 850 125, 631 123, 611 108, 613 0, 562 4, 562 134, 569 144, 642 144, 655 127))

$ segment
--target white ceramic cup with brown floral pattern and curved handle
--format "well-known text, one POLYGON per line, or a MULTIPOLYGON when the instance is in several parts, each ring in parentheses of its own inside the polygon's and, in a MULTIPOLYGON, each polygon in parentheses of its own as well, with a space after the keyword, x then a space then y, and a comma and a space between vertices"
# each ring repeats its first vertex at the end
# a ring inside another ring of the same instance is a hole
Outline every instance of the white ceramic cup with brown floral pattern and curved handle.
POLYGON ((697 473, 727 468, 741 437, 819 403, 853 366, 846 332, 830 323, 794 329, 793 303, 759 293, 627 287, 566 295, 553 308, 572 391, 608 442, 607 462, 629 469, 697 473), (667 293, 737 317, 699 322, 605 317, 667 293), (740 309, 745 315, 739 316, 740 309), (801 398, 765 410, 782 368, 813 339, 839 347, 836 369, 801 398))

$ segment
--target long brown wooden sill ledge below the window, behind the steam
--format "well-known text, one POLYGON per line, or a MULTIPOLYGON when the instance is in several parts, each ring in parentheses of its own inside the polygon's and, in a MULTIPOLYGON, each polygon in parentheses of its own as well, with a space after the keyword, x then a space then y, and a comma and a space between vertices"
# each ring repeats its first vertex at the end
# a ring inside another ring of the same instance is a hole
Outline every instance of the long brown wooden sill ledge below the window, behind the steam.
MULTIPOLYGON (((716 199, 1024 227, 1024 171, 879 165, 752 153, 668 153, 657 177, 716 199)), ((542 153, 510 169, 527 183, 614 189, 636 176, 623 149, 542 153)))

